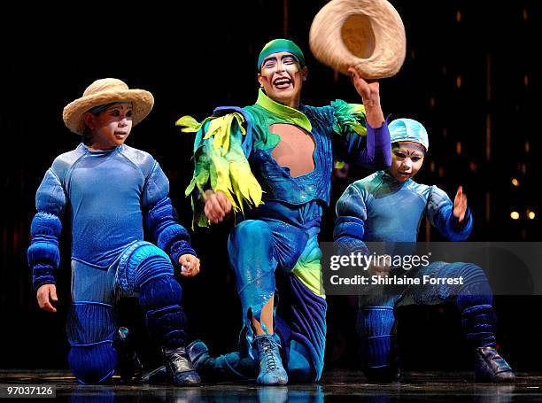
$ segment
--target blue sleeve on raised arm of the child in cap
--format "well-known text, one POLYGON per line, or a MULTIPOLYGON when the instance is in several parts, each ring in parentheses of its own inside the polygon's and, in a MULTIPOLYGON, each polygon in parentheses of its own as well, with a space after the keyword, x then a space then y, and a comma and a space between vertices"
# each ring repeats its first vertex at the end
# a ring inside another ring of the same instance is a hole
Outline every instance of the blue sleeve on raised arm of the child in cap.
POLYGON ((430 197, 427 205, 427 216, 431 225, 450 241, 464 241, 472 230, 472 214, 467 208, 465 218, 459 221, 453 215, 453 202, 444 190, 437 186, 431 186, 430 197))

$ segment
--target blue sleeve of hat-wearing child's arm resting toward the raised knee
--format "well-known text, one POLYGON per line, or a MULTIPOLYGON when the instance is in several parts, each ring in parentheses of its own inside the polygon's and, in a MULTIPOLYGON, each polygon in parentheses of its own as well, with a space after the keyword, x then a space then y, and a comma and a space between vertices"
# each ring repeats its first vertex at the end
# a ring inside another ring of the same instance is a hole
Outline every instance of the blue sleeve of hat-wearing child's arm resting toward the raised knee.
POLYGON ((177 215, 167 197, 169 181, 156 162, 143 188, 143 208, 146 211, 146 225, 160 249, 166 251, 178 265, 183 254, 196 256, 190 246, 189 233, 177 222, 177 215))

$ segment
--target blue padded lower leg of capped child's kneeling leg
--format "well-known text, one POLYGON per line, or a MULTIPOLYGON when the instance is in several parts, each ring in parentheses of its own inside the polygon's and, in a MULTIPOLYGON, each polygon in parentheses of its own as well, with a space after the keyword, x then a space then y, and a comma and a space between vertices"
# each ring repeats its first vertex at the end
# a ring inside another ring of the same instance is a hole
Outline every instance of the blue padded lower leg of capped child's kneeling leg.
POLYGON ((356 328, 360 335, 360 354, 367 368, 384 368, 390 364, 395 337, 392 306, 364 306, 358 313, 356 328))

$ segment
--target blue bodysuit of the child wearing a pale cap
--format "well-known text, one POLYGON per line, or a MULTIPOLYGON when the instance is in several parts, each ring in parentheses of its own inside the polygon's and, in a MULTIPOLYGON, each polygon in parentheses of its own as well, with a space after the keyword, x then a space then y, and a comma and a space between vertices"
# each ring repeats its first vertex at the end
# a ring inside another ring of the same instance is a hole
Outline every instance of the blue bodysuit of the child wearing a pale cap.
MULTIPOLYGON (((383 171, 352 183, 337 202, 334 239, 346 251, 368 252, 364 242, 416 242, 426 216, 443 236, 467 239, 472 229, 469 210, 463 221, 453 216, 453 203, 437 186, 397 181, 383 171)), ((391 274, 393 275, 393 274, 391 274)), ((378 292, 360 295, 357 329, 361 337, 366 370, 392 367, 396 360, 394 324, 396 306, 438 304, 447 300, 461 311, 462 324, 473 347, 495 345, 492 291, 484 271, 470 263, 436 261, 420 268, 415 276, 460 277, 460 285, 412 285, 398 294, 378 292)))

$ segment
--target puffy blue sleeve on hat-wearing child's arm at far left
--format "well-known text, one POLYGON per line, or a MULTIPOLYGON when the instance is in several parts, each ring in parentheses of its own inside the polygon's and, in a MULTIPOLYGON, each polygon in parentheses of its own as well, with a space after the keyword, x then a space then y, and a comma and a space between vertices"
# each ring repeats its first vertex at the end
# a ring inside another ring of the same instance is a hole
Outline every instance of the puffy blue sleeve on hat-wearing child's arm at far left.
POLYGON ((66 192, 57 174, 49 169, 35 194, 37 213, 32 220, 32 241, 27 251, 32 267, 32 285, 36 291, 43 284, 55 284, 54 271, 60 263, 58 238, 62 232, 62 215, 66 207, 66 192))

